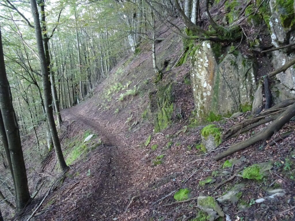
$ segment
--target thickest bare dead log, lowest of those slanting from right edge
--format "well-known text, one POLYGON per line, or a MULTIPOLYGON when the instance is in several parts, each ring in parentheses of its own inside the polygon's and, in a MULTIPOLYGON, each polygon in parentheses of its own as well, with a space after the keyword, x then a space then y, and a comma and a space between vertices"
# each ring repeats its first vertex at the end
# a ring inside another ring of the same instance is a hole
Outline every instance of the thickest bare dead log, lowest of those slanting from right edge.
POLYGON ((262 131, 260 131, 259 133, 257 133, 256 135, 250 137, 249 139, 245 141, 241 141, 237 144, 232 145, 226 151, 223 151, 222 153, 215 156, 214 159, 218 161, 237 151, 244 150, 247 147, 252 146, 253 144, 256 144, 260 141, 267 141, 268 139, 271 138, 271 136, 273 136, 274 133, 279 131, 294 116, 295 116, 295 102, 292 105, 290 105, 283 113, 281 113, 280 116, 278 116, 278 118, 276 118, 276 120, 273 121, 273 123, 271 123, 269 126, 264 128, 262 131))

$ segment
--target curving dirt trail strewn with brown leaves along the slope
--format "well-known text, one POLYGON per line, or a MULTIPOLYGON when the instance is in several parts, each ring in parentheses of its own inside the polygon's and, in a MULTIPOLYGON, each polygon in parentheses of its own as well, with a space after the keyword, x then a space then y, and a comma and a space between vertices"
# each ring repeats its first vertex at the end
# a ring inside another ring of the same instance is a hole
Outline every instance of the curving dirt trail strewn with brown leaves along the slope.
POLYGON ((138 168, 141 164, 130 163, 140 158, 122 138, 105 126, 108 116, 98 116, 96 111, 90 110, 93 106, 89 101, 91 99, 63 110, 62 117, 64 121, 75 123, 75 128, 69 133, 91 129, 104 144, 90 152, 86 162, 71 166, 72 171, 78 169, 81 175, 77 177, 77 182, 70 181, 66 188, 58 190, 60 197, 68 197, 67 194, 70 197, 63 200, 68 204, 62 206, 63 212, 57 208, 56 216, 52 214, 54 220, 117 220, 126 210, 129 198, 132 198, 129 196, 134 185, 134 171, 144 169, 138 168), (91 171, 89 177, 85 175, 88 169, 91 171))

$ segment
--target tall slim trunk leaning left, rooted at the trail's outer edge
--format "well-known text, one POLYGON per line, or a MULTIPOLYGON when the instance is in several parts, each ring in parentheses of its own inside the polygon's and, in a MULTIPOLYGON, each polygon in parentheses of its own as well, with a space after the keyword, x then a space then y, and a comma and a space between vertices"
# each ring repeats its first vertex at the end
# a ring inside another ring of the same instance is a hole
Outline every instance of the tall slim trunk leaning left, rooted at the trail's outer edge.
MULTIPOLYGON (((58 133, 57 133, 54 118, 53 118, 52 98, 50 93, 51 92, 50 81, 48 77, 50 74, 50 70, 45 58, 45 50, 43 47, 42 30, 40 26, 39 12, 38 12, 36 1, 30 0, 30 3, 31 3, 31 9, 33 13, 34 23, 35 23, 35 34, 36 34, 37 48, 38 48, 38 53, 40 58, 46 116, 47 116, 51 136, 53 139, 53 145, 55 148, 59 165, 61 169, 65 171, 66 169, 68 169, 68 166, 66 165, 65 159, 63 158, 63 152, 61 150, 60 141, 58 138, 58 133)), ((46 53, 49 53, 49 52, 46 52, 46 53)))

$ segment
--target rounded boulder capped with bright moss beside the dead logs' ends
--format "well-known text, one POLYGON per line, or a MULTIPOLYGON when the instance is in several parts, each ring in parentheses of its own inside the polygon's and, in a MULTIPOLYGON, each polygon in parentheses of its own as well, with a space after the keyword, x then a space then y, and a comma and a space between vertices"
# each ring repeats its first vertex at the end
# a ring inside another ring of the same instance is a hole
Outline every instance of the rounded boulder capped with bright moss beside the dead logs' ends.
POLYGON ((201 130, 201 139, 203 146, 207 151, 212 151, 221 144, 221 130, 215 124, 209 124, 201 130))

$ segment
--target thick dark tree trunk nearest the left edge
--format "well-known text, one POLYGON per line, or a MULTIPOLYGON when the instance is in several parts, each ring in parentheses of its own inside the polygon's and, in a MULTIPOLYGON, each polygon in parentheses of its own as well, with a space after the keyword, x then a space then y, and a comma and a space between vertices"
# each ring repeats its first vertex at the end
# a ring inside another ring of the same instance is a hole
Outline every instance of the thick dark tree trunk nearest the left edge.
MULTIPOLYGON (((9 146, 12 170, 15 180, 15 193, 17 196, 17 208, 24 208, 30 201, 26 167, 22 152, 19 127, 12 106, 9 83, 6 77, 4 55, 0 30, 0 110, 2 115, 6 138, 9 146)), ((5 136, 5 135, 4 135, 5 136)), ((5 140, 5 137, 2 138, 5 140)))

